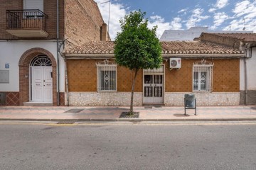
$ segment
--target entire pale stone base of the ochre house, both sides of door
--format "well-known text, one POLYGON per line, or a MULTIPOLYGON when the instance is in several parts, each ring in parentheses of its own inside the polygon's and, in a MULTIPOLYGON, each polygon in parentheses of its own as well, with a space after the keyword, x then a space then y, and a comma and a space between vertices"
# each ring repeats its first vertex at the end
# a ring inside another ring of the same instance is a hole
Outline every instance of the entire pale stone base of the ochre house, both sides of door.
MULTIPOLYGON (((165 106, 184 106, 184 94, 165 93, 165 106)), ((194 93, 197 106, 239 105, 240 93, 194 93)), ((142 106, 142 93, 134 93, 134 106, 142 106)), ((129 106, 130 92, 117 93, 69 93, 69 106, 129 106)), ((67 104, 67 103, 66 103, 67 104)))

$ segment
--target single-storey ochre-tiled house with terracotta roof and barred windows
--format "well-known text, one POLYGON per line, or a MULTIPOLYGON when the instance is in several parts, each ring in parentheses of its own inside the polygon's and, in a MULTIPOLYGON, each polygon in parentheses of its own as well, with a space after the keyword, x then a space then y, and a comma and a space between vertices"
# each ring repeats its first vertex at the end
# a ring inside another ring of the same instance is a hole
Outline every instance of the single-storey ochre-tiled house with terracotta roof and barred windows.
MULTIPOLYGON (((134 106, 183 106, 184 94, 191 93, 198 106, 240 103, 242 50, 207 41, 161 42, 161 47, 162 67, 138 73, 134 106)), ((134 73, 114 63, 114 42, 70 43, 63 55, 68 105, 129 106, 134 73)))

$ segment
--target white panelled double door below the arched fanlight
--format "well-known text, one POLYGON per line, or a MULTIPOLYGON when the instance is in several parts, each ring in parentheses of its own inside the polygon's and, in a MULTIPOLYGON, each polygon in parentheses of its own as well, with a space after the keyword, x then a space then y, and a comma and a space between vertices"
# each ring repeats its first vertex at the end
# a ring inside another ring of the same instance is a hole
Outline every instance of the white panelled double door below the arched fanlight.
POLYGON ((53 78, 52 67, 33 66, 31 81, 31 93, 33 102, 53 102, 53 78))

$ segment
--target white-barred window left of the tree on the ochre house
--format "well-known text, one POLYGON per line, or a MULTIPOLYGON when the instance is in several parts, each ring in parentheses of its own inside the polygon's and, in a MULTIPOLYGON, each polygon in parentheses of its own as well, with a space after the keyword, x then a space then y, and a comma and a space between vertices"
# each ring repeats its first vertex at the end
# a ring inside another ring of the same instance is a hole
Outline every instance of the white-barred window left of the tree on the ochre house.
POLYGON ((97 64, 97 91, 117 91, 117 65, 105 60, 97 64))

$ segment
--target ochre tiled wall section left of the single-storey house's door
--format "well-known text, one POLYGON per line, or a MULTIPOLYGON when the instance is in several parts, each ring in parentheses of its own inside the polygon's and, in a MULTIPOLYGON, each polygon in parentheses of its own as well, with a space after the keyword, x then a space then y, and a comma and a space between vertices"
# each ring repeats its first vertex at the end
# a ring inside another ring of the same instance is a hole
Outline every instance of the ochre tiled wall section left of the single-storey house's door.
MULTIPOLYGON (((102 60, 68 60, 68 91, 97 91, 97 62, 102 60)), ((117 91, 131 91, 134 72, 117 66, 117 77, 117 91)), ((142 70, 137 74, 134 91, 142 91, 142 70)))

